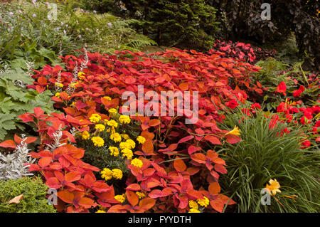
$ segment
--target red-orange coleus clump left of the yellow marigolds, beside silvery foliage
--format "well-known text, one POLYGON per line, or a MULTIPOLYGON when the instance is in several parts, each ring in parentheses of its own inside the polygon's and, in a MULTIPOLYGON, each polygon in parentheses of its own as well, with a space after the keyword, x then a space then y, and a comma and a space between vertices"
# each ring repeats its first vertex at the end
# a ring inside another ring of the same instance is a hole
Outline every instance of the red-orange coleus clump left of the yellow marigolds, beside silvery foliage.
MULTIPOLYGON (((88 212, 89 208, 100 204, 106 194, 112 194, 113 187, 105 184, 105 181, 97 181, 93 171, 100 169, 82 162, 84 149, 69 144, 75 142, 73 134, 69 132, 70 128, 78 127, 82 122, 70 115, 44 115, 43 110, 38 107, 33 111, 34 114, 18 116, 23 122, 35 123, 41 137, 42 144, 38 147, 38 152, 30 153, 38 162, 30 164, 29 170, 40 171, 46 185, 50 189, 58 189, 58 204, 55 204, 58 211, 88 212)), ((36 139, 28 137, 28 142, 36 139)), ((15 140, 18 142, 20 139, 15 137, 15 140)), ((2 145, 6 143, 8 141, 2 145)), ((101 204, 111 206, 110 203, 117 204, 118 201, 109 199, 101 204)))

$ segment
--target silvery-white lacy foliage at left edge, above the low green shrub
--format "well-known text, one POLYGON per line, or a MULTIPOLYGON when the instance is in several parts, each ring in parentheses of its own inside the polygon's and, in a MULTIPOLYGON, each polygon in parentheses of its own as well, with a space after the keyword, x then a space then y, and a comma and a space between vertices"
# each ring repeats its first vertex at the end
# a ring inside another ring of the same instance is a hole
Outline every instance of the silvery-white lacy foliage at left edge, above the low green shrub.
POLYGON ((23 176, 32 176, 28 167, 35 162, 28 153, 28 145, 24 142, 26 137, 24 134, 22 141, 16 146, 16 149, 9 154, 1 154, 0 152, 0 180, 20 179, 23 176))

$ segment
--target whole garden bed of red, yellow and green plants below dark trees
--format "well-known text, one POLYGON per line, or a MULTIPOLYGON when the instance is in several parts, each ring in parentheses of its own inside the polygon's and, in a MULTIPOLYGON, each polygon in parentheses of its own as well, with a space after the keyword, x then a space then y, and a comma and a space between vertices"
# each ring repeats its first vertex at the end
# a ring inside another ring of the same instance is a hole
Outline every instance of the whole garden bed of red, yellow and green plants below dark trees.
POLYGON ((74 4, 3 6, 26 14, 0 17, 0 212, 319 212, 319 73, 203 33, 139 52, 139 21, 74 4))

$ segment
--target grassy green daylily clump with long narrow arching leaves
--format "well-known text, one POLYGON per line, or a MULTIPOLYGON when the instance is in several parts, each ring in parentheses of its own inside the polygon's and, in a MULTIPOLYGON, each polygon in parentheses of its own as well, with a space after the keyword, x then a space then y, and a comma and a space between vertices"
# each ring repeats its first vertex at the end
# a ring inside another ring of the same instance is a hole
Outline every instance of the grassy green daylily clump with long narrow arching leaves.
POLYGON ((299 148, 299 128, 279 136, 286 125, 270 129, 270 122, 262 112, 226 115, 229 128, 239 127, 241 142, 220 149, 228 164, 220 184, 237 201, 238 212, 319 212, 319 150, 299 148), (262 206, 260 191, 270 179, 277 179, 281 193, 262 206))

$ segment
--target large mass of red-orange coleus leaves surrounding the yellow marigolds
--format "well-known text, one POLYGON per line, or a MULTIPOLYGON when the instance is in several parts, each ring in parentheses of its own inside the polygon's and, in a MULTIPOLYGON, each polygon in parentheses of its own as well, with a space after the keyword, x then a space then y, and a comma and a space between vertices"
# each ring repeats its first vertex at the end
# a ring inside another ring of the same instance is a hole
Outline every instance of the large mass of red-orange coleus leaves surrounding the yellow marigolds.
MULTIPOLYGON (((194 124, 186 124, 185 120, 190 118, 190 112, 186 111, 183 112, 183 115, 132 117, 142 123, 142 136, 146 142, 135 152, 142 160, 143 166, 139 168, 128 163, 131 175, 128 176, 125 190, 127 201, 122 204, 114 202, 112 187, 108 187, 109 191, 98 192, 95 191, 94 184, 90 186, 87 183, 83 184, 85 176, 86 179, 89 179, 92 174, 87 175, 87 171, 90 170, 84 171, 77 166, 73 167, 80 160, 71 162, 65 157, 61 158, 61 162, 70 162, 72 168, 63 167, 68 169, 60 173, 55 172, 56 169, 55 171, 50 170, 50 173, 45 175, 48 177, 48 184, 55 187, 64 186, 68 189, 68 192, 65 192, 63 188, 61 191, 64 192, 60 193, 60 199, 66 204, 71 204, 68 211, 87 211, 87 207, 82 205, 84 196, 88 199, 97 197, 97 203, 107 208, 114 203, 115 205, 108 209, 109 212, 188 211, 188 201, 204 199, 206 194, 204 189, 210 184, 218 184, 219 174, 227 172, 225 162, 213 151, 215 145, 222 144, 222 141, 230 143, 240 141, 240 137, 227 134, 228 131, 217 127, 216 122, 223 120, 218 110, 225 108, 224 102, 227 106, 232 107, 238 105, 237 100, 245 102, 247 94, 240 88, 260 89, 259 84, 250 87, 250 77, 259 68, 238 60, 222 58, 219 53, 207 55, 196 51, 189 53, 176 50, 151 55, 122 51, 116 52, 114 56, 99 53, 87 53, 87 56, 89 58, 87 68, 82 70, 79 78, 74 74, 76 65, 81 65, 83 61, 82 56, 79 58, 61 57, 66 63, 67 70, 63 70, 60 66, 51 68, 47 65, 43 70, 35 71, 36 75, 33 75, 33 78, 37 82, 29 88, 41 92, 43 88, 55 90, 56 83, 62 84, 59 93, 52 97, 52 100, 56 102, 55 107, 63 109, 66 113, 65 116, 55 114, 46 117, 42 116, 41 112, 36 115, 36 117, 43 118, 42 121, 36 123, 42 144, 50 144, 54 137, 53 133, 60 125, 69 130, 75 127, 81 132, 86 130, 86 125, 92 124, 89 117, 93 113, 98 113, 102 119, 107 119, 103 112, 112 107, 122 106, 124 100, 121 97, 126 91, 137 95, 138 99, 131 101, 138 108, 141 105, 146 107, 147 100, 139 98, 139 85, 144 85, 144 93, 149 91, 156 94, 160 94, 161 91, 172 91, 173 93, 190 91, 193 93, 197 91, 199 94, 197 103, 191 100, 191 106, 198 105, 198 121, 194 124), (159 57, 161 59, 157 60, 156 58, 159 57), (76 82, 75 78, 78 78, 76 82), (71 86, 73 89, 70 89, 71 86), (53 125, 48 126, 46 121, 53 122, 53 125), (204 181, 198 179, 204 179, 204 181), (137 196, 132 193, 133 189, 139 189, 146 198, 137 199, 137 196), (90 191, 89 196, 78 193, 78 191, 87 190, 90 191)), ((159 100, 161 100, 160 95, 159 100)), ((167 102, 166 109, 169 110, 169 108, 177 112, 177 107, 167 102)), ((24 120, 32 120, 32 117, 35 116, 22 116, 24 120)), ((68 130, 63 130, 63 135, 65 142, 75 142, 72 134, 70 132, 68 134, 68 130)), ((59 159, 54 161, 52 157, 51 159, 50 162, 60 163, 59 159)), ((43 165, 42 162, 44 161, 41 161, 41 165, 43 165)), ((59 166, 59 164, 55 165, 59 166)), ((41 167, 38 164, 38 167, 33 168, 46 167, 47 165, 41 167)), ((40 170, 45 171, 46 169, 40 170)), ((91 169, 91 171, 95 170, 91 169)), ((211 205, 215 205, 211 206, 212 209, 206 209, 222 211, 221 206, 217 204, 225 205, 228 199, 226 196, 210 194, 209 191, 208 195, 211 196, 206 196, 206 198, 211 205)), ((89 201, 88 199, 85 201, 89 201)), ((229 201, 229 204, 233 203, 229 201)), ((96 206, 93 201, 92 206, 96 206)))

